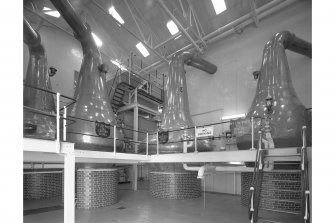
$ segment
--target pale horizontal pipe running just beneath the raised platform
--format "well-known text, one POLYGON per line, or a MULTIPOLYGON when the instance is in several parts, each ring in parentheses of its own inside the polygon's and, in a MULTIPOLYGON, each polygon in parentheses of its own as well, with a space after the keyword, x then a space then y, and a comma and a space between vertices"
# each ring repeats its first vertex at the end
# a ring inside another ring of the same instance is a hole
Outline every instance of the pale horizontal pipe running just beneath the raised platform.
POLYGON ((203 165, 203 166, 188 166, 187 164, 183 164, 183 168, 188 171, 198 171, 198 179, 204 179, 206 172, 253 172, 254 168, 245 167, 245 166, 211 166, 211 165, 203 165))

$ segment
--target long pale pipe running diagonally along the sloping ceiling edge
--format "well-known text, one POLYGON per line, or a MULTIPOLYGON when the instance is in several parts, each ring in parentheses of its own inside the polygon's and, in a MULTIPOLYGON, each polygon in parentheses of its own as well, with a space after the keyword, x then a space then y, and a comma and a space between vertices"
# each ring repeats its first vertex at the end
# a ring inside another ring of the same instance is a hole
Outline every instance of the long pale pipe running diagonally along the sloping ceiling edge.
MULTIPOLYGON (((282 1, 282 0, 273 0, 259 8, 256 9, 256 12, 258 14, 258 19, 261 20, 263 18, 265 18, 266 16, 269 16, 293 3, 297 2, 297 0, 286 0, 286 1, 282 1)), ((249 24, 252 24, 254 22, 254 20, 251 18, 252 15, 250 14, 246 14, 236 20, 234 20, 233 22, 231 23, 228 23, 227 25, 225 26, 222 26, 220 28, 218 28, 217 30, 207 34, 206 36, 203 37, 203 40, 206 41, 207 43, 214 43, 216 42, 217 40, 219 39, 222 39, 222 38, 225 38, 233 33, 235 33, 234 31, 234 27, 240 25, 241 23, 243 23, 243 27, 249 25, 249 24)), ((189 44, 189 45, 186 45, 185 47, 177 50, 176 52, 168 55, 166 58, 167 59, 171 59, 172 56, 178 52, 181 52, 181 51, 185 51, 185 50, 189 50, 191 49, 193 46, 193 44, 189 44)), ((146 72, 148 70, 152 70, 154 68, 158 68, 159 66, 163 65, 162 61, 157 61, 145 68, 143 68, 140 72, 146 72)))

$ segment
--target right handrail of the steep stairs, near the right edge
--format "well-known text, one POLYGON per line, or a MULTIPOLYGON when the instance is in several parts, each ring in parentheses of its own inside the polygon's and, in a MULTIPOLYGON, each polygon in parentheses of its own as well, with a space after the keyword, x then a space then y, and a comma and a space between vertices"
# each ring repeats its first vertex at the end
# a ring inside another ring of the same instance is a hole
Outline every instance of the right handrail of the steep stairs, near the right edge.
POLYGON ((303 223, 310 222, 310 190, 308 177, 308 156, 306 143, 306 126, 302 127, 302 147, 301 147, 301 216, 303 223))

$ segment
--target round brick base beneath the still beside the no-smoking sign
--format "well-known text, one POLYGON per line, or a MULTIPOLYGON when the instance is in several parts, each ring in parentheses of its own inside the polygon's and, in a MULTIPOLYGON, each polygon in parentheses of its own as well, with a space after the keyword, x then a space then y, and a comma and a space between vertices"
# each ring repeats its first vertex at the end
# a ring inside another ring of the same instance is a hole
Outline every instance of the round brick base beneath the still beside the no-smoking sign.
POLYGON ((150 172, 150 193, 164 199, 189 199, 201 196, 201 182, 197 172, 150 172))

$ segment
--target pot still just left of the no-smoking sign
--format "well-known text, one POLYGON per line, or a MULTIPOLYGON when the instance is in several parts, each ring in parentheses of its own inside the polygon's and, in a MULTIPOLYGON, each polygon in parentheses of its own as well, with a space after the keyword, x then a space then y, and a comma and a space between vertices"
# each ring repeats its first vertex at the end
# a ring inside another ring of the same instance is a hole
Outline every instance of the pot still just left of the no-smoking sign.
MULTIPOLYGON (((165 134, 164 142, 159 142, 159 153, 182 153, 183 143, 187 141, 187 152, 194 149, 194 129, 193 121, 189 111, 187 86, 184 64, 193 66, 207 73, 214 74, 217 67, 206 60, 200 58, 195 52, 180 52, 175 54, 169 63, 169 74, 164 91, 164 104, 161 114, 161 124, 158 131, 165 134), (183 130, 184 129, 184 130, 183 130), (175 131, 177 130, 177 131, 175 131)), ((149 154, 157 153, 157 136, 149 136, 149 154), (151 145, 150 145, 151 144, 151 145)), ((139 146, 139 152, 145 153, 145 146, 139 146)), ((209 140, 198 140, 197 150, 199 152, 210 151, 212 149, 209 140)))

